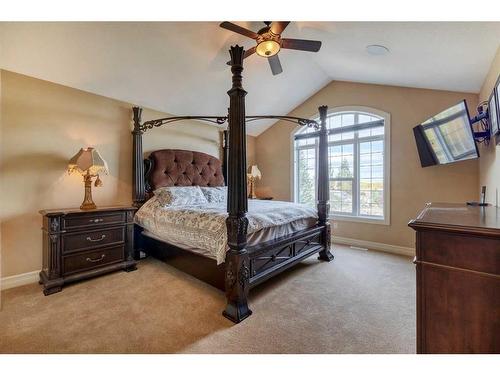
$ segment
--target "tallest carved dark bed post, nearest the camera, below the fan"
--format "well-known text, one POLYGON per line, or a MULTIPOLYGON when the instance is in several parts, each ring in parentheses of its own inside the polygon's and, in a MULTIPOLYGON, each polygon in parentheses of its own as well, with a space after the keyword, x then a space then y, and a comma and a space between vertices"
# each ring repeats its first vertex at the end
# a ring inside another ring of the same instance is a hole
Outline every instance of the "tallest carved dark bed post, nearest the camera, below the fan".
POLYGON ((250 260, 246 250, 248 211, 246 174, 245 95, 241 84, 243 47, 232 46, 231 72, 233 86, 229 95, 228 197, 226 219, 229 250, 226 253, 225 289, 227 305, 223 315, 235 323, 249 317, 247 298, 250 281, 250 260))

